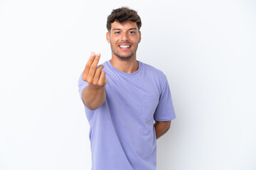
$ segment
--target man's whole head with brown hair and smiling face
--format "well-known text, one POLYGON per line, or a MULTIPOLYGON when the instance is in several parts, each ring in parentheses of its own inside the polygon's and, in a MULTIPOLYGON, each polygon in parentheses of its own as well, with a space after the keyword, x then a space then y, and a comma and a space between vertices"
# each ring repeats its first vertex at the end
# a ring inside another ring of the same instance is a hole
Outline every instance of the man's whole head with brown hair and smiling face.
POLYGON ((142 21, 136 11, 122 7, 112 11, 107 17, 107 42, 110 43, 112 58, 132 60, 141 41, 139 28, 142 21))

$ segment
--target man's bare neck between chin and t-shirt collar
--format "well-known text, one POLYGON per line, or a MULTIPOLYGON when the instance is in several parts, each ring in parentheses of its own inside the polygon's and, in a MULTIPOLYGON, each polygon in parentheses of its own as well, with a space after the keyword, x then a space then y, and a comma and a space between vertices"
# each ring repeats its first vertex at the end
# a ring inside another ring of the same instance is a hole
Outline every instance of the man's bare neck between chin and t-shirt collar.
POLYGON ((139 62, 137 62, 136 56, 132 57, 130 60, 121 60, 112 55, 110 63, 115 69, 118 69, 121 72, 134 73, 139 69, 139 62))

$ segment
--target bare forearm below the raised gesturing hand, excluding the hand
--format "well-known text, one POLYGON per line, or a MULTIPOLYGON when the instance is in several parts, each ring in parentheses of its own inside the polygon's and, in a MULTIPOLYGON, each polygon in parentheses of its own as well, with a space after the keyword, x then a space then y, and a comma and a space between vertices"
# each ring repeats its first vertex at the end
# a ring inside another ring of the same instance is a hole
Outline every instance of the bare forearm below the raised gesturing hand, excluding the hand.
POLYGON ((89 84, 82 90, 82 102, 90 110, 100 108, 100 106, 105 102, 105 99, 105 86, 95 88, 95 86, 89 84))

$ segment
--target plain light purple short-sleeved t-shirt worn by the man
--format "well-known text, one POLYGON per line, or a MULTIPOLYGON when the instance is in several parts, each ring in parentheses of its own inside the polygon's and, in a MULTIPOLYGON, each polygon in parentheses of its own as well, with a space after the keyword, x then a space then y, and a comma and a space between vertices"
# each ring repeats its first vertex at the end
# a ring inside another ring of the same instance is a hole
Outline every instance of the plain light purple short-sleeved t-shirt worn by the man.
MULTIPOLYGON (((92 170, 155 170, 154 120, 176 118, 166 76, 142 62, 132 74, 115 69, 110 61, 102 65, 107 77, 105 103, 95 111, 85 106, 92 170)), ((80 97, 87 85, 81 74, 80 97)))

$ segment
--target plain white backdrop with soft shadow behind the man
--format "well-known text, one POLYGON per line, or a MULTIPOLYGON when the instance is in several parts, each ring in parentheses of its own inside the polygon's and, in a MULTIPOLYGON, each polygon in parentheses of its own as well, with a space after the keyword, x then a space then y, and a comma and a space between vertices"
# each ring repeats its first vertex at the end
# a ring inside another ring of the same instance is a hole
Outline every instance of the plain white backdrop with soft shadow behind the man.
POLYGON ((250 0, 0 0, 0 169, 90 169, 78 78, 91 51, 110 60, 107 16, 121 6, 141 16, 137 60, 166 74, 174 101, 157 170, 255 170, 250 0))

